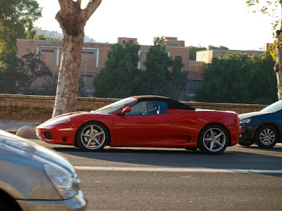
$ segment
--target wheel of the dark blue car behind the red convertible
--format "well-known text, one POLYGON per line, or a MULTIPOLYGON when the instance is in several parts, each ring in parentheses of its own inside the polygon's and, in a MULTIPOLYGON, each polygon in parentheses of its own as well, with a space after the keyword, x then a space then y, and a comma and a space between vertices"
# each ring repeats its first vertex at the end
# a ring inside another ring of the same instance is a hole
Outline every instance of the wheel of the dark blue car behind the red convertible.
POLYGON ((273 148, 278 140, 278 132, 270 124, 262 125, 255 133, 255 143, 260 148, 273 148))

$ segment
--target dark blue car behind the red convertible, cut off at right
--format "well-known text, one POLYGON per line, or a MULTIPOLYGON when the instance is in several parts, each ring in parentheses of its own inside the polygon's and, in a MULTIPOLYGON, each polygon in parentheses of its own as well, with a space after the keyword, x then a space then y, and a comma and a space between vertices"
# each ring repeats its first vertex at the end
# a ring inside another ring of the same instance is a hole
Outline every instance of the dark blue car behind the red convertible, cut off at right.
POLYGON ((241 137, 239 144, 261 148, 272 148, 282 142, 282 101, 252 113, 240 114, 241 137))

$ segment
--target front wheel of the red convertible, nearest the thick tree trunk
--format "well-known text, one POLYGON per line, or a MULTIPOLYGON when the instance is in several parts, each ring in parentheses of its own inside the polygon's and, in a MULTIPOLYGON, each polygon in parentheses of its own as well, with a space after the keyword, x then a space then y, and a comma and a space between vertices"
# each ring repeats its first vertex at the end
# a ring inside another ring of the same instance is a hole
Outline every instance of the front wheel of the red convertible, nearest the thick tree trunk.
POLYGON ((109 132, 100 122, 86 122, 78 129, 75 146, 83 151, 102 151, 109 142, 109 132))

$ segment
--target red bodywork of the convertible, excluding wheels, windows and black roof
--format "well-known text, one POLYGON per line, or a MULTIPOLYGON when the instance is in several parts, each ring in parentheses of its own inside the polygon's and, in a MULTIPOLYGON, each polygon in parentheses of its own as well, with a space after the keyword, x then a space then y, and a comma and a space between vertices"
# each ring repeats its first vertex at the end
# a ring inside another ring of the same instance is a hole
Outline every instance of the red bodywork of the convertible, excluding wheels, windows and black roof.
POLYGON ((200 131, 207 124, 226 127, 230 135, 229 146, 238 143, 240 136, 236 113, 167 109, 161 115, 118 115, 123 108, 111 114, 76 112, 54 117, 37 127, 37 136, 47 143, 75 145, 78 128, 92 121, 101 122, 109 130, 110 146, 197 148, 200 131), (51 139, 46 132, 51 132, 51 139))

